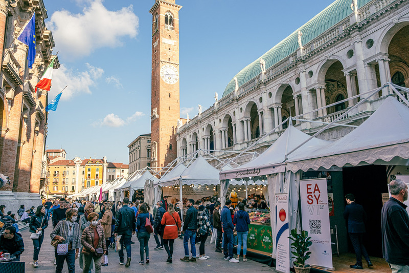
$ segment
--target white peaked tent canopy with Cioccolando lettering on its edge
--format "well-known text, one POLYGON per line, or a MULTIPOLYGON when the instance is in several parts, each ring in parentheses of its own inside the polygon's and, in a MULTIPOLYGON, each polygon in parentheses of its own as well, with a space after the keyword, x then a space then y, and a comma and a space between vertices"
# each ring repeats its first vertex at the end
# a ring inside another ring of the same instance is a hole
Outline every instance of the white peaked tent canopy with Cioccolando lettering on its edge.
MULTIPOLYGON (((308 138, 310 138, 310 135, 294 128, 290 123, 287 130, 285 130, 284 133, 261 155, 239 167, 221 171, 220 179, 237 179, 283 173, 285 170, 285 164, 283 162, 286 160, 286 154, 308 138)), ((327 146, 329 143, 332 142, 319 138, 312 138, 297 151, 302 154, 308 154, 311 150, 327 146)))

